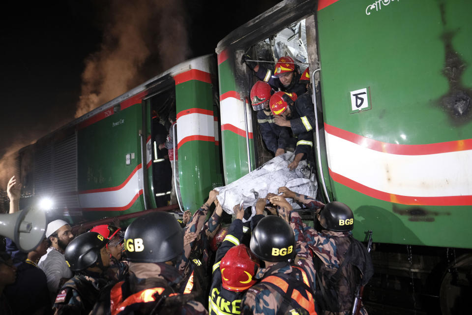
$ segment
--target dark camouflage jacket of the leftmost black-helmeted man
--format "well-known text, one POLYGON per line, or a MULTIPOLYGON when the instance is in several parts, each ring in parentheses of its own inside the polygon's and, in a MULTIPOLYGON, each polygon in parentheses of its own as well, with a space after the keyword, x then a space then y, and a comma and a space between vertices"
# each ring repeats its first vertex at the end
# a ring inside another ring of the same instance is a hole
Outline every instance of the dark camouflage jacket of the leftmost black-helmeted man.
POLYGON ((104 277, 103 274, 86 270, 69 279, 59 290, 54 302, 54 314, 89 314, 100 290, 108 284, 104 277))

